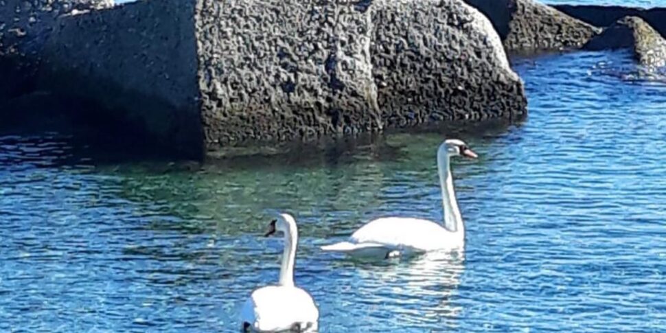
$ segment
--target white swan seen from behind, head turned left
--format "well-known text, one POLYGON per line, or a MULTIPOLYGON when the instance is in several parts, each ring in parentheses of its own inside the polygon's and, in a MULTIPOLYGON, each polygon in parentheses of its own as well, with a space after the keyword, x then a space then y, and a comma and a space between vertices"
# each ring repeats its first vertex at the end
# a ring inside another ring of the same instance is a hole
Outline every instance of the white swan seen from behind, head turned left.
POLYGON ((296 220, 280 214, 271 221, 266 237, 284 233, 284 254, 277 286, 254 290, 241 312, 244 332, 313 332, 319 326, 319 310, 312 296, 294 284, 294 264, 298 242, 296 220))

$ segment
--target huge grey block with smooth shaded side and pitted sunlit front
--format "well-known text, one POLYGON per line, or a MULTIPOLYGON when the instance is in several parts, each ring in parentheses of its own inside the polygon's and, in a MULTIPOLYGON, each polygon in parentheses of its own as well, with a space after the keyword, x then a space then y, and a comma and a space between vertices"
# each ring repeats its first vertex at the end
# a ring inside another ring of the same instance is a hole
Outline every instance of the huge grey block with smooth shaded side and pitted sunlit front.
POLYGON ((161 0, 62 16, 40 87, 174 152, 526 113, 461 0, 161 0))

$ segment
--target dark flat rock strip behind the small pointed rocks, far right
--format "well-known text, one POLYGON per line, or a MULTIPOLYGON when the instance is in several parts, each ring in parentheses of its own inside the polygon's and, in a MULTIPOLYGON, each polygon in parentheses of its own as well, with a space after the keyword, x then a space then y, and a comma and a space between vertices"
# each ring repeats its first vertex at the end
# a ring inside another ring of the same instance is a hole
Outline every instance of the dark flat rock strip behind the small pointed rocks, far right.
POLYGON ((625 16, 638 16, 666 37, 666 8, 630 8, 606 5, 555 5, 576 19, 597 27, 608 27, 625 16))

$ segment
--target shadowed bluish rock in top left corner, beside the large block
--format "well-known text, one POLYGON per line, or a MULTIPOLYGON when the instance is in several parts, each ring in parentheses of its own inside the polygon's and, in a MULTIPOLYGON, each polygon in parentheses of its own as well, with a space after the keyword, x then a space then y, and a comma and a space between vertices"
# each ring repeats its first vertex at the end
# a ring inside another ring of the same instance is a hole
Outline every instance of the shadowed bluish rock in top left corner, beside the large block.
POLYGON ((113 0, 0 0, 0 99, 30 90, 58 16, 113 6, 113 0))

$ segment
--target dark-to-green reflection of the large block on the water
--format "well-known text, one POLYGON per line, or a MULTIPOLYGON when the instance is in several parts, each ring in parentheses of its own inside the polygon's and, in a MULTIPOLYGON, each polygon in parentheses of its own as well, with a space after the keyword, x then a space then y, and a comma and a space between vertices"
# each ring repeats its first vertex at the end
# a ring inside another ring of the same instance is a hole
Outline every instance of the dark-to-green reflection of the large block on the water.
MULTIPOLYGON (((131 203, 133 216, 143 221, 133 226, 137 231, 239 235, 262 229, 270 215, 265 211, 267 207, 324 219, 328 218, 325 211, 346 207, 342 226, 370 218, 371 207, 385 200, 382 196, 393 196, 382 193, 382 188, 389 187, 396 194, 410 190, 402 184, 395 188, 389 184, 399 165, 407 166, 398 169, 410 170, 401 177, 411 179, 411 192, 429 187, 438 195, 435 152, 441 141, 459 137, 472 147, 484 146, 511 128, 518 130, 520 124, 496 121, 430 126, 420 128, 425 134, 417 137, 412 135, 414 130, 394 130, 381 135, 292 143, 279 152, 244 152, 205 163, 163 161, 131 150, 107 150, 75 134, 49 133, 39 128, 31 135, 0 136, 0 166, 103 176, 98 179, 100 186, 113 188, 113 196, 131 203)), ((470 172, 483 172, 480 165, 484 160, 474 161, 476 167, 470 172)), ((456 176, 463 179, 467 174, 456 176)), ((438 200, 428 199, 427 206, 437 207, 438 200)), ((426 216, 429 210, 425 210, 426 216)), ((336 219, 340 218, 336 214, 336 219)), ((318 223, 304 228, 315 235, 335 236, 337 232, 323 229, 318 223)), ((159 251, 153 254, 168 257, 159 251)))

